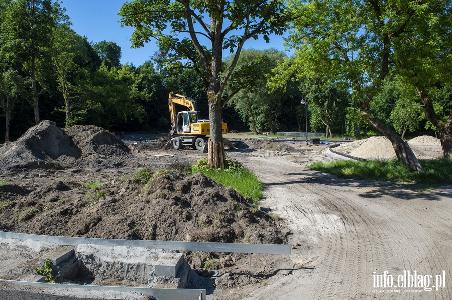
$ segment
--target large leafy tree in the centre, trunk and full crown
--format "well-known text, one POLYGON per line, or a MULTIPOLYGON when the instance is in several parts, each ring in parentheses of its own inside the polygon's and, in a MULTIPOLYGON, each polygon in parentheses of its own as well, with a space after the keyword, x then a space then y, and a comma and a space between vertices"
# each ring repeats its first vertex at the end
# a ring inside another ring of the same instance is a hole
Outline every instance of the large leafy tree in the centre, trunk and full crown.
POLYGON ((269 34, 283 33, 291 19, 284 1, 135 0, 123 5, 120 16, 123 25, 135 28, 134 47, 155 38, 170 65, 193 68, 201 77, 209 103, 209 162, 223 167, 221 113, 236 93, 223 96, 224 89, 247 40, 268 41, 269 34), (228 65, 223 64, 226 49, 235 53, 228 65))

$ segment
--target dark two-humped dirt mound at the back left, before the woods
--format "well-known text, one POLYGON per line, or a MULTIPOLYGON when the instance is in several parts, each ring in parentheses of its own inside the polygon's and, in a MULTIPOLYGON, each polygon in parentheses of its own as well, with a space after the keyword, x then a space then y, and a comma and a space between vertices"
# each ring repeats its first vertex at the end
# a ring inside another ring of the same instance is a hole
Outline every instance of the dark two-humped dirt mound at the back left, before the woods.
POLYGON ((74 165, 112 165, 130 150, 115 135, 94 126, 62 130, 52 121, 41 121, 17 141, 0 148, 0 168, 65 169, 74 165), (118 160, 118 159, 117 159, 118 160))

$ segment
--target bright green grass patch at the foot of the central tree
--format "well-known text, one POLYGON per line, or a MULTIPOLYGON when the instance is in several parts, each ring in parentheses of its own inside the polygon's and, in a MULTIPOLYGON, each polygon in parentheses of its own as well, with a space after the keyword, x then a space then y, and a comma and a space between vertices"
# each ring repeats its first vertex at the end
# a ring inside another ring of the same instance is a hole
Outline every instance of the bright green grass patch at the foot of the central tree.
POLYGON ((212 180, 221 183, 224 186, 230 186, 236 189, 243 196, 251 197, 253 203, 261 200, 264 185, 257 176, 244 168, 241 163, 234 160, 227 160, 226 168, 219 170, 213 168, 207 162, 206 158, 198 160, 191 166, 192 174, 201 172, 212 180))

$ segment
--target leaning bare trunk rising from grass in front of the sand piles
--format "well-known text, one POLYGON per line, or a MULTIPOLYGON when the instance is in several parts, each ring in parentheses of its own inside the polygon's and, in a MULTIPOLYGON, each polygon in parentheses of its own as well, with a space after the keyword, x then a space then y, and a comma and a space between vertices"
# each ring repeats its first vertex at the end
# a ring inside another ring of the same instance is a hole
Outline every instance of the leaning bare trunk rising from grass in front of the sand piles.
POLYGON ((403 161, 408 167, 412 169, 418 171, 424 170, 408 143, 404 142, 402 138, 397 134, 397 132, 386 126, 386 124, 384 124, 380 120, 372 118, 369 113, 362 112, 362 114, 366 116, 370 125, 375 127, 375 129, 377 129, 391 141, 392 147, 394 148, 398 160, 403 161))

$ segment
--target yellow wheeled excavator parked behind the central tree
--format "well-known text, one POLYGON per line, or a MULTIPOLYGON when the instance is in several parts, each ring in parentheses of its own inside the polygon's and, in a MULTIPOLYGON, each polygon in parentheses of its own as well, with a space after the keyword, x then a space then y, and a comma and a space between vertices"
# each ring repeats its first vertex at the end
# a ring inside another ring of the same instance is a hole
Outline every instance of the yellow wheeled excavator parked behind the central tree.
MULTIPOLYGON (((171 115, 171 135, 175 136, 173 147, 176 150, 184 146, 190 146, 199 151, 204 149, 204 145, 210 134, 209 120, 198 119, 196 102, 190 97, 170 93, 168 97, 168 106, 171 115), (186 111, 176 112, 176 104, 187 107, 186 111)), ((221 123, 221 132, 227 133, 226 123, 221 123)))

